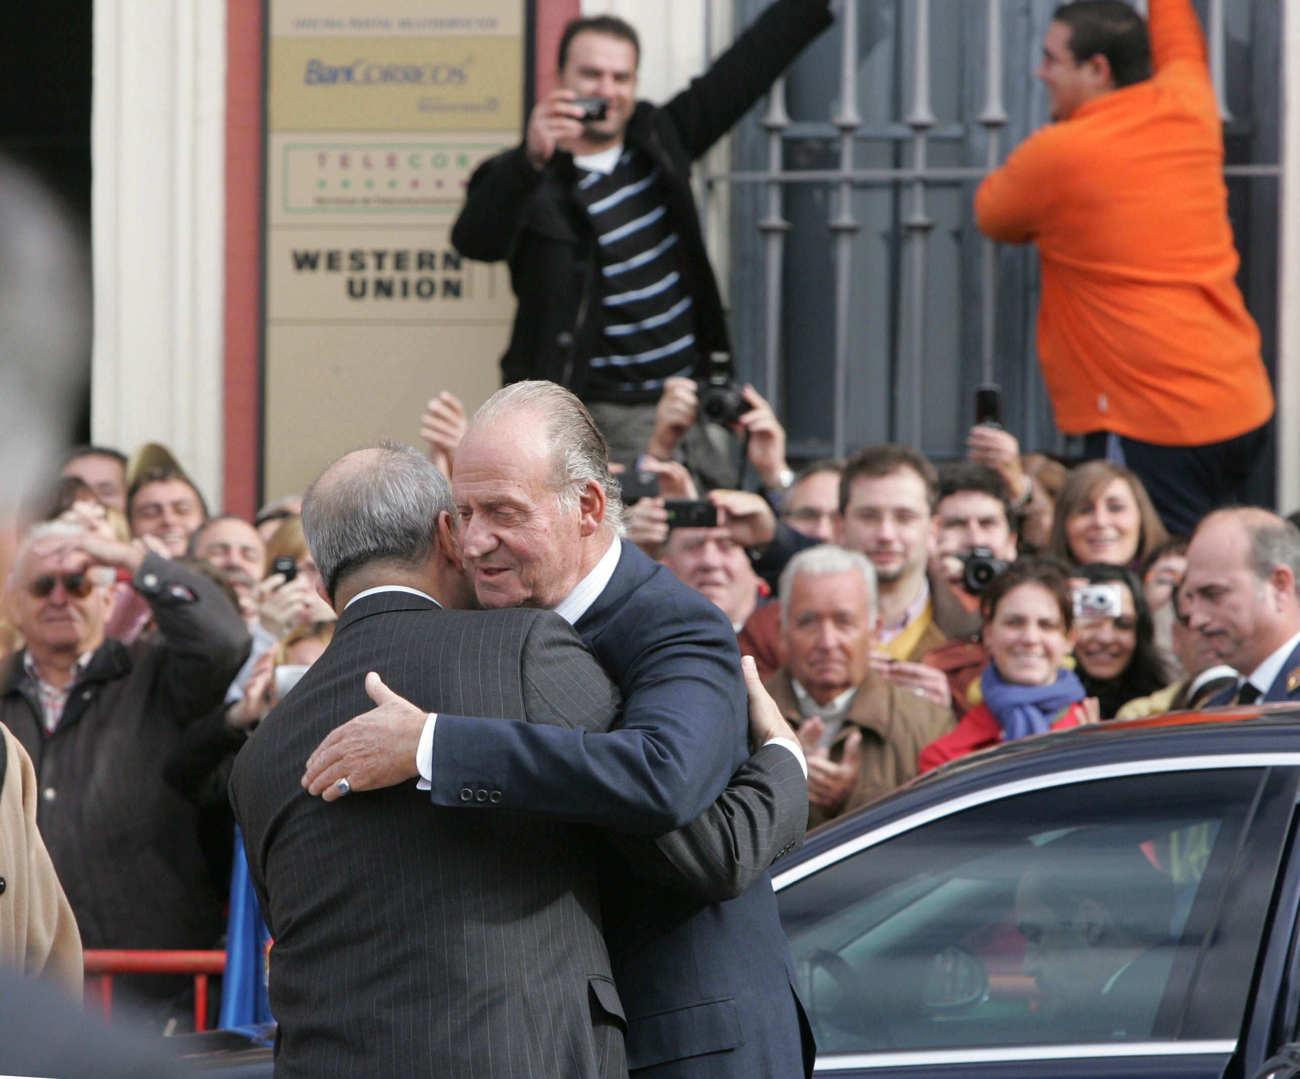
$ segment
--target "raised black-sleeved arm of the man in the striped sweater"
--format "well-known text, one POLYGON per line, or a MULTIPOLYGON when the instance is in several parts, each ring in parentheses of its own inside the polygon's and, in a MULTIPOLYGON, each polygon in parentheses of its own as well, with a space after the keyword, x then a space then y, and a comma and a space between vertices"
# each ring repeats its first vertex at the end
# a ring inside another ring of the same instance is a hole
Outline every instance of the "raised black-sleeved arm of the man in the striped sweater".
POLYGON ((664 110, 692 157, 749 112, 794 58, 833 22, 829 0, 776 0, 664 110))

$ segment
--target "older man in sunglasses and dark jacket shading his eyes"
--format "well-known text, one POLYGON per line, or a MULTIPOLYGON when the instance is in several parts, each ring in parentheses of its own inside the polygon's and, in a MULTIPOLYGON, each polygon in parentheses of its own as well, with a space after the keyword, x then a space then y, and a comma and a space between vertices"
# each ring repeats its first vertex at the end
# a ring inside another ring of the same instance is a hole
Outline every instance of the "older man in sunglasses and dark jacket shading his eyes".
POLYGON ((203 575, 57 521, 26 540, 8 598, 26 647, 0 682, 0 722, 35 764, 38 823, 86 946, 212 946, 220 901, 162 762, 243 663, 239 612, 203 575), (159 627, 130 646, 104 636, 117 569, 159 627))

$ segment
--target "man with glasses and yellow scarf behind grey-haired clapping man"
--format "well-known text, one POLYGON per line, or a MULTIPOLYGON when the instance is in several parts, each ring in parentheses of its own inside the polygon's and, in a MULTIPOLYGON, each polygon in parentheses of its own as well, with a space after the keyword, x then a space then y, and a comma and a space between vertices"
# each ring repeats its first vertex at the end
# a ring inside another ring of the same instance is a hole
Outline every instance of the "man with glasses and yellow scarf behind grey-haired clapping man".
MULTIPOLYGON (((845 547, 864 554, 876 571, 880 673, 948 706, 946 677, 919 660, 944 641, 974 633, 978 620, 930 564, 936 486, 935 467, 914 450, 862 450, 845 465, 840 481, 840 536, 845 547)), ((798 537, 798 547, 811 545, 798 537)), ((784 662, 779 612, 759 610, 746 623, 740 644, 760 671, 775 671, 784 662)))

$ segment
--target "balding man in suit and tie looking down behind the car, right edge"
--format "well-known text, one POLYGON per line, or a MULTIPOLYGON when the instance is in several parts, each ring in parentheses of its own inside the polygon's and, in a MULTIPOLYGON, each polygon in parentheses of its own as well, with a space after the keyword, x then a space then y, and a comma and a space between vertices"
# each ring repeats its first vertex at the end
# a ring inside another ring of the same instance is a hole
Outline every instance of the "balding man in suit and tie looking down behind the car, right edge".
POLYGON ((1201 521, 1183 580, 1188 625, 1240 679, 1209 705, 1300 699, 1300 530, 1266 510, 1201 521))

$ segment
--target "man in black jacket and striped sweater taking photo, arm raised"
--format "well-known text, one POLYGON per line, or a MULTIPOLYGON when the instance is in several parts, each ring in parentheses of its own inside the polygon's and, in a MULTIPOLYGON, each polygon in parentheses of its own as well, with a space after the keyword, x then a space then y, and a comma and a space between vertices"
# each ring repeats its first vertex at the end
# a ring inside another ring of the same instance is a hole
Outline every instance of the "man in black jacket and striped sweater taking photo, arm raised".
POLYGON ((829 0, 776 0, 659 108, 636 98, 636 31, 576 20, 560 43, 560 88, 538 103, 524 143, 471 181, 451 242, 469 259, 510 260, 519 311, 504 381, 573 390, 614 460, 645 450, 666 378, 731 351, 692 162, 831 21, 829 0), (584 122, 578 98, 602 99, 604 118, 584 122))

